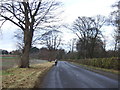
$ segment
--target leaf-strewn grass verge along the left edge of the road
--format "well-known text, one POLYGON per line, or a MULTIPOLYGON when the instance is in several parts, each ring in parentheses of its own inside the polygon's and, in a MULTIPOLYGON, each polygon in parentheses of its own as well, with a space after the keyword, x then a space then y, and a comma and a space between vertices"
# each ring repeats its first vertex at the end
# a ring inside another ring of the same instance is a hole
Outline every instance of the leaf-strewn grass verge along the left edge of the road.
POLYGON ((2 88, 34 88, 36 81, 53 66, 53 62, 11 68, 2 72, 2 88))

